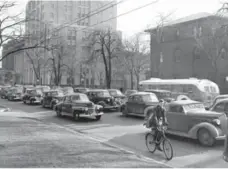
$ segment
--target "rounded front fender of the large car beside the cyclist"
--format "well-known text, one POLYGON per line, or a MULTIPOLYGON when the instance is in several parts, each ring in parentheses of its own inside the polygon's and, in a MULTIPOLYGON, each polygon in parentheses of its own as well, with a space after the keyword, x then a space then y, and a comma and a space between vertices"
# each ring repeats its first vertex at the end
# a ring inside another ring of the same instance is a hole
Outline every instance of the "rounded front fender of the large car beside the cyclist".
POLYGON ((210 123, 207 123, 207 122, 203 122, 203 123, 200 123, 200 124, 197 124, 197 125, 193 126, 189 130, 188 135, 191 138, 197 139, 197 133, 198 133, 200 128, 208 129, 211 132, 211 134, 213 135, 213 137, 219 136, 219 130, 217 129, 217 127, 215 127, 213 124, 210 124, 210 123))

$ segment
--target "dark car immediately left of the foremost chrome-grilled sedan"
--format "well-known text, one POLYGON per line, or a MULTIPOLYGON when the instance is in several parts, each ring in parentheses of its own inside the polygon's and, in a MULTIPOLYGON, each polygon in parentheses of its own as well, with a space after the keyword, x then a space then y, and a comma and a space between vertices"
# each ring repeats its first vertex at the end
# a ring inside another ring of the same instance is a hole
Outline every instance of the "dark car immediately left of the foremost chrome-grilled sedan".
POLYGON ((64 97, 61 90, 50 90, 43 93, 42 106, 53 109, 64 97))

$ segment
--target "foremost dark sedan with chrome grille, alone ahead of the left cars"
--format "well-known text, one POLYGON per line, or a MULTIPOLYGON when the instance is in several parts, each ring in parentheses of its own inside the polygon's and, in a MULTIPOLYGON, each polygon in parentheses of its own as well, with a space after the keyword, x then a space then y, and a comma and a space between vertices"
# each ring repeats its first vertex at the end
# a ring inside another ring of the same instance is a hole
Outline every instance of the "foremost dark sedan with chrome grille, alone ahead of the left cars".
POLYGON ((100 120, 103 115, 102 106, 92 103, 87 95, 74 93, 64 96, 63 100, 56 105, 56 114, 71 116, 74 119, 80 117, 93 117, 100 120))

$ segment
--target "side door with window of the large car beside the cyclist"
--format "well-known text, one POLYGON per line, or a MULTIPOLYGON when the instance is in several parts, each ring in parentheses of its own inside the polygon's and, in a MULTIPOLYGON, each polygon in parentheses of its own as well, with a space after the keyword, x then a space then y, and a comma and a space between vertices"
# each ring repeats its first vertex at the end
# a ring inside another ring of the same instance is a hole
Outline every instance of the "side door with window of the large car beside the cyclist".
POLYGON ((188 132, 188 117, 181 105, 170 105, 167 112, 168 128, 177 132, 188 132))

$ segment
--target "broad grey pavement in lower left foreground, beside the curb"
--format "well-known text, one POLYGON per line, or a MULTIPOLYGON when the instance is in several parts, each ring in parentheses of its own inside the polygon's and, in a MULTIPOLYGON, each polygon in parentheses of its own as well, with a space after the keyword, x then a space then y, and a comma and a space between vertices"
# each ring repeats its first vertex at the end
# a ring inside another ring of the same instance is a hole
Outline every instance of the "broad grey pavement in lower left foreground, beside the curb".
POLYGON ((0 113, 0 167, 165 168, 26 113, 0 113))

